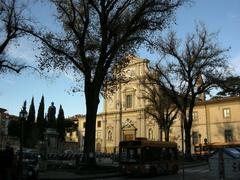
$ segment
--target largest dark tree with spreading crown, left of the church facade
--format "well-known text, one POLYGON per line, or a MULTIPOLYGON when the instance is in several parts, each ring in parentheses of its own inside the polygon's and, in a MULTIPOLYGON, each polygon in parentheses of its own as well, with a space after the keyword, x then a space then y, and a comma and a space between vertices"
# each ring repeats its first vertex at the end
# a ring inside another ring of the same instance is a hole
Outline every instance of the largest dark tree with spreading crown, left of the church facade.
MULTIPOLYGON (((99 94, 113 66, 160 32, 185 0, 49 0, 62 25, 57 32, 28 32, 42 42, 41 68, 83 76, 86 98, 84 161, 95 164, 99 94), (60 33, 59 33, 60 32, 60 33)), ((78 76, 79 77, 79 76, 78 76)))

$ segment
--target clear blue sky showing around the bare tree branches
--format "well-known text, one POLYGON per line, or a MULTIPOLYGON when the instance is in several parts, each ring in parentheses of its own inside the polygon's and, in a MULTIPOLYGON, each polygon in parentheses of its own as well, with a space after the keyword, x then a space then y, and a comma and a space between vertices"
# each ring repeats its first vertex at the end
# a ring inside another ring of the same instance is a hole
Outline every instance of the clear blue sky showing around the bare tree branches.
MULTIPOLYGON (((182 7, 177 11, 175 30, 180 38, 195 29, 197 22, 203 22, 209 32, 219 32, 218 42, 222 47, 231 47, 229 52, 229 63, 234 70, 240 74, 240 1, 239 0, 197 0, 191 6, 182 7)), ((52 15, 52 7, 34 6, 31 16, 38 18, 50 28, 56 27, 57 23, 50 21, 47 16, 52 15)), ((30 12, 29 12, 30 13, 30 12)), ((21 39, 20 46, 11 46, 8 53, 11 57, 21 59, 34 64, 36 51, 33 51, 34 43, 21 39)), ((158 56, 149 54, 141 49, 138 54, 141 58, 151 61, 158 56)), ((68 93, 74 81, 71 75, 61 73, 59 78, 54 74, 48 74, 46 79, 32 71, 22 72, 20 75, 5 74, 0 76, 0 107, 8 110, 10 114, 18 115, 23 101, 27 100, 29 107, 31 98, 34 96, 35 109, 38 110, 41 96, 45 97, 45 110, 53 101, 57 110, 62 104, 65 116, 85 114, 85 100, 83 92, 68 93)), ((99 112, 102 111, 102 102, 99 112)))

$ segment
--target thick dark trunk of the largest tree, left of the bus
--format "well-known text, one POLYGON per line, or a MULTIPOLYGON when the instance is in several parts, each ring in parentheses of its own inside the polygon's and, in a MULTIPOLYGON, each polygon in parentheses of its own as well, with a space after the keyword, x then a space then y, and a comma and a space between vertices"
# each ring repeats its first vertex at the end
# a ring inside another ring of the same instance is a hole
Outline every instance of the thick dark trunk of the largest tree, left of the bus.
POLYGON ((95 165, 95 132, 96 132, 96 117, 99 104, 99 91, 94 86, 86 85, 86 126, 84 140, 84 158, 83 162, 86 165, 95 165))

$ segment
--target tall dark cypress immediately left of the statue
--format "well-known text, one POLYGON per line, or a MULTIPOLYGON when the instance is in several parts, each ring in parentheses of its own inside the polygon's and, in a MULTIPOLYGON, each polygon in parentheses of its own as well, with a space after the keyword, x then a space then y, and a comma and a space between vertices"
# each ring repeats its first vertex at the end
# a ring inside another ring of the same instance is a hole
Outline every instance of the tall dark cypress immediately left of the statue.
POLYGON ((39 140, 44 140, 44 131, 46 129, 46 119, 44 117, 44 96, 39 104, 38 115, 37 115, 37 128, 39 140))

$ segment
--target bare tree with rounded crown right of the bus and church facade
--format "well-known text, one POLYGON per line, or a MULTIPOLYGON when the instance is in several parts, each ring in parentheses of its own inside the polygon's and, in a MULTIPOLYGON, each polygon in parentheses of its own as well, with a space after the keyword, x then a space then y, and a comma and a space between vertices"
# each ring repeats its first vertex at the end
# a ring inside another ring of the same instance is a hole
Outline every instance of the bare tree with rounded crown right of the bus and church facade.
POLYGON ((157 44, 163 59, 154 67, 155 83, 182 114, 187 158, 191 158, 193 108, 198 100, 204 101, 204 92, 216 86, 216 79, 228 74, 228 50, 221 48, 216 38, 216 33, 208 33, 204 25, 199 25, 184 43, 171 32, 157 44))

